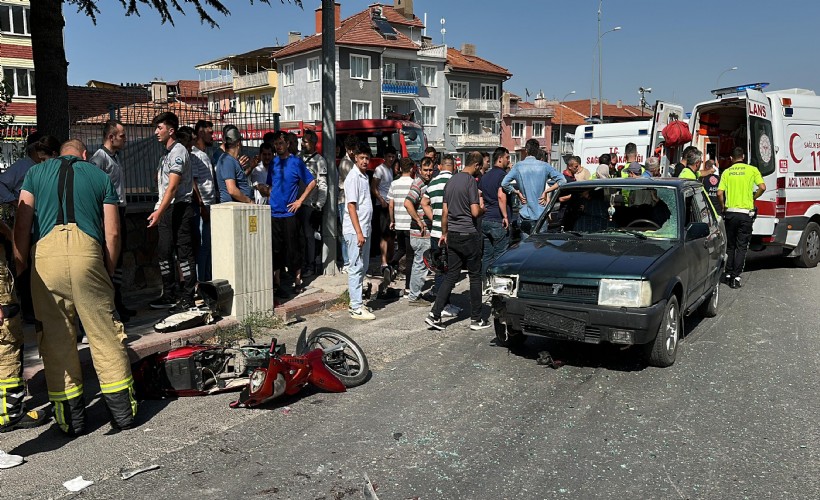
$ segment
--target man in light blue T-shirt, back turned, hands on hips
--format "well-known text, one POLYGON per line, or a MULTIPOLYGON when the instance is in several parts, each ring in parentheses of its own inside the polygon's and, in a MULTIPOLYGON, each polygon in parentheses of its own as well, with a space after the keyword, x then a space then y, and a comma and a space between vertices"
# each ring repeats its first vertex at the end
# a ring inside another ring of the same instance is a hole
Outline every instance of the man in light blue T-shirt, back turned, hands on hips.
POLYGON ((538 139, 529 139, 524 145, 526 157, 516 163, 504 176, 501 187, 521 200, 518 218, 521 224, 521 236, 526 238, 535 227, 535 222, 544 213, 546 203, 542 201, 548 193, 567 183, 564 175, 547 162, 537 158, 541 146, 538 139), (511 186, 515 181, 516 188, 511 186), (552 181, 552 185, 547 183, 552 181), (543 205, 542 205, 543 203, 543 205))

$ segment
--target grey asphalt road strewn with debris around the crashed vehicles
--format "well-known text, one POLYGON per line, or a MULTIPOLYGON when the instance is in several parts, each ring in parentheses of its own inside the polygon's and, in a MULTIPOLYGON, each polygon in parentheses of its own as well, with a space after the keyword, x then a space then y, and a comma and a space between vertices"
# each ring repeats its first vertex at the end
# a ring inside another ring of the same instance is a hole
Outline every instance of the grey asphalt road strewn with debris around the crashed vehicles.
POLYGON ((752 259, 717 318, 686 320, 666 369, 616 347, 530 339, 510 353, 466 317, 432 332, 400 303, 369 323, 323 313, 307 326, 360 341, 365 385, 253 410, 228 408, 230 394, 149 401, 121 433, 97 402, 94 431, 73 441, 2 435, 28 462, 0 471, 0 497, 68 495, 82 475, 95 482, 83 498, 363 498, 367 474, 382 500, 820 498, 818 291, 820 269, 752 259), (543 350, 563 366, 539 366, 543 350), (149 464, 161 468, 116 477, 149 464))

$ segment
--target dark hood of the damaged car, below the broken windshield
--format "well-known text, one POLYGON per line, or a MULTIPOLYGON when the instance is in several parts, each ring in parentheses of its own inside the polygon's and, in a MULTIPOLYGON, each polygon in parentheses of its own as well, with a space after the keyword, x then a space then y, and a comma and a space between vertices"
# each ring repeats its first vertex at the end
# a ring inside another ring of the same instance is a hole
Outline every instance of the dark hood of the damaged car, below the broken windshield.
POLYGON ((674 242, 630 236, 536 234, 512 247, 490 273, 539 278, 641 278, 674 242))

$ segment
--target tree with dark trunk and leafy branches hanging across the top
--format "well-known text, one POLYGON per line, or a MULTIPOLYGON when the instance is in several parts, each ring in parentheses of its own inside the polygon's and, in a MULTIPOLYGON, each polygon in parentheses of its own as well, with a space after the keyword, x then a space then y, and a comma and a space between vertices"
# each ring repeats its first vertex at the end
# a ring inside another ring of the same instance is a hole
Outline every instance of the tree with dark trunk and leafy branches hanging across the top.
MULTIPOLYGON (((251 4, 254 0, 249 0, 251 4)), ((270 0, 257 0, 270 5, 270 0)), ((287 0, 302 7, 302 0, 287 0)), ((285 0, 280 0, 285 3, 285 0)), ((68 139, 68 62, 63 45, 63 4, 74 5, 96 24, 99 0, 35 0, 31 2, 31 47, 34 52, 34 82, 37 95, 37 129, 60 140, 68 139)), ((125 15, 139 15, 139 8, 156 10, 162 23, 174 24, 175 13, 185 14, 192 5, 203 24, 219 25, 208 9, 227 16, 230 11, 220 0, 120 0, 125 15)))

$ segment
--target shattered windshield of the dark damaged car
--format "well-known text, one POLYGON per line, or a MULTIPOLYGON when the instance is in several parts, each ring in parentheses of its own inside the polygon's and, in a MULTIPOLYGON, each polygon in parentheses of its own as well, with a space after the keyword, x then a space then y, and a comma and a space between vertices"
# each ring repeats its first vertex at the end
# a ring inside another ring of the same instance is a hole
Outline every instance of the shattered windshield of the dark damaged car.
POLYGON ((677 239, 677 193, 670 186, 564 187, 550 200, 539 233, 623 234, 677 239))

